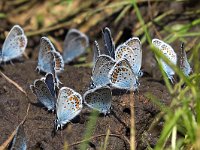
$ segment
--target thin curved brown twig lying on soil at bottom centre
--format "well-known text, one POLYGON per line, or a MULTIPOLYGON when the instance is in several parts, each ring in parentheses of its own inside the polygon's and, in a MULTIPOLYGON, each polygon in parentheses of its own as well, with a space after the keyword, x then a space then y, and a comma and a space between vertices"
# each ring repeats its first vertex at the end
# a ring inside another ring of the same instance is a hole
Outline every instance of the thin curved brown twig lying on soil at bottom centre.
MULTIPOLYGON (((95 138, 99 138, 99 137, 102 137, 102 136, 106 136, 106 135, 107 135, 107 134, 99 134, 99 135, 90 137, 90 138, 88 138, 88 139, 85 139, 85 140, 82 140, 82 141, 78 141, 78 142, 69 144, 68 147, 71 147, 71 146, 74 146, 74 145, 78 145, 78 144, 80 144, 80 143, 83 143, 83 142, 86 142, 86 141, 89 141, 89 140, 92 140, 92 139, 95 139, 95 138)), ((110 134, 109 136, 120 138, 120 139, 126 141, 128 144, 130 144, 129 140, 128 140, 127 138, 125 138, 125 137, 122 137, 121 135, 118 135, 118 134, 110 134)))

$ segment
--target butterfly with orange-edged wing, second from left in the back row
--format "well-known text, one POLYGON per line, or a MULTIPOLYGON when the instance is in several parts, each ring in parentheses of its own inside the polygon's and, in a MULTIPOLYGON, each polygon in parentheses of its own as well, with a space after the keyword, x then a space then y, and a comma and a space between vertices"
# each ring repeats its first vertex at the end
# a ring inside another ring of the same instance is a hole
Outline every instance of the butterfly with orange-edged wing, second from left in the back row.
POLYGON ((64 61, 59 52, 57 52, 47 37, 40 39, 40 48, 37 68, 46 73, 60 73, 64 70, 64 61))

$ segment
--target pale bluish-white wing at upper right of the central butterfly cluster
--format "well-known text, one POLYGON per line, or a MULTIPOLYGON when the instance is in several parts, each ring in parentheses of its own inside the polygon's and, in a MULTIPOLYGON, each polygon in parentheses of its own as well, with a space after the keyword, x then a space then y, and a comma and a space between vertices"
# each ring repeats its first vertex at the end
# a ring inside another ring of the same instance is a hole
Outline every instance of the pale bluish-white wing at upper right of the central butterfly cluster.
POLYGON ((142 46, 139 38, 132 37, 125 42, 125 44, 132 48, 133 58, 131 66, 135 75, 139 75, 139 71, 142 66, 142 46))

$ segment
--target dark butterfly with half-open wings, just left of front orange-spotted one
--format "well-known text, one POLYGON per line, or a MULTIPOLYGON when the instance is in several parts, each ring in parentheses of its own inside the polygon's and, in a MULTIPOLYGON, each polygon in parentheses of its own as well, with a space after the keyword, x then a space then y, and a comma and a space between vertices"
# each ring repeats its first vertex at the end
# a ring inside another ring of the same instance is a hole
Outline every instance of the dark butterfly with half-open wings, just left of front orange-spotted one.
POLYGON ((54 76, 51 73, 46 74, 45 78, 37 79, 30 86, 33 94, 36 95, 38 101, 51 111, 56 108, 56 92, 54 76))

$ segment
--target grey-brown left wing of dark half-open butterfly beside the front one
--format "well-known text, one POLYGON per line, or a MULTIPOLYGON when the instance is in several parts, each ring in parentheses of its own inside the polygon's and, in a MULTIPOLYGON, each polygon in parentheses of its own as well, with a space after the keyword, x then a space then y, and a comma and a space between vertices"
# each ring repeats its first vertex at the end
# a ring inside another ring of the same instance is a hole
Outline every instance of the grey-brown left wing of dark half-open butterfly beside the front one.
POLYGON ((44 81, 36 80, 34 85, 31 85, 30 88, 40 103, 42 103, 48 110, 54 111, 56 100, 44 81))

